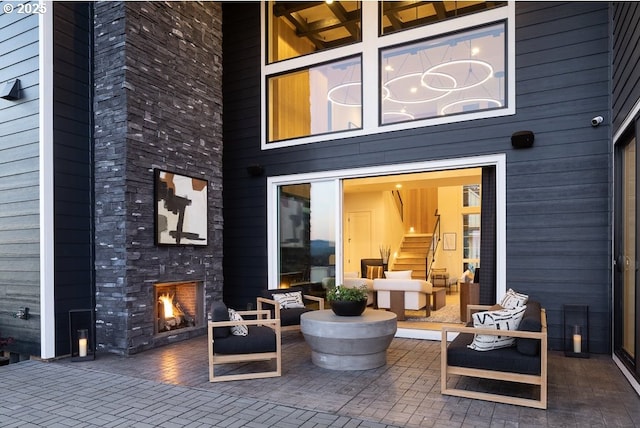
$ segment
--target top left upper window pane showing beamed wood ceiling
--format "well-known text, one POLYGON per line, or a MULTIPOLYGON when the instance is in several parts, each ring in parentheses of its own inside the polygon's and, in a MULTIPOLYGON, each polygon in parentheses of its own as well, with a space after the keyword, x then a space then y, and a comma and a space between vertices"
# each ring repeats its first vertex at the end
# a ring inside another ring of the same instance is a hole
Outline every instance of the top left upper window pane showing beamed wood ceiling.
POLYGON ((359 42, 360 2, 268 2, 267 62, 359 42))

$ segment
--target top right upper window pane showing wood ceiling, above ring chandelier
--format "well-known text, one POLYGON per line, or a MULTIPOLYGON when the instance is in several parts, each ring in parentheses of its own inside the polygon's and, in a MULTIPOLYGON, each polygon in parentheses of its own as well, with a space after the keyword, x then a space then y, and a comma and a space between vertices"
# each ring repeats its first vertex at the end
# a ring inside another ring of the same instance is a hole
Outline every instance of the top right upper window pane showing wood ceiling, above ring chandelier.
POLYGON ((391 34, 506 4, 506 1, 382 1, 380 34, 391 34))

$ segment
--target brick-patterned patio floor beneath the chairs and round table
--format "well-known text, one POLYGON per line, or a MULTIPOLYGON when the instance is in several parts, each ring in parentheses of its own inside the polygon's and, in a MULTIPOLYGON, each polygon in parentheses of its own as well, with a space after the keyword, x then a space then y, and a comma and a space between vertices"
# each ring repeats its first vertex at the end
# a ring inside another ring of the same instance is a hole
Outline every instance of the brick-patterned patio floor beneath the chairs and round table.
POLYGON ((127 358, 10 364, 0 426, 640 426, 640 398, 603 355, 550 352, 546 411, 442 396, 439 342, 396 338, 387 365, 333 371, 287 332, 282 367, 279 378, 211 384, 204 336, 127 358))

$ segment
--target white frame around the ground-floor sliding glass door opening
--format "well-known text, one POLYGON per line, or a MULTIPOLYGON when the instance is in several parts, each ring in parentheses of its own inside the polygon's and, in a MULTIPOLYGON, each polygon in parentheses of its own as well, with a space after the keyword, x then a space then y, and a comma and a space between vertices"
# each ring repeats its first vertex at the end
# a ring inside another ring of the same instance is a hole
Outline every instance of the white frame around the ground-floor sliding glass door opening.
MULTIPOLYGON (((376 175, 443 171, 461 168, 496 167, 496 301, 500 301, 507 291, 507 157, 504 153, 472 156, 455 159, 434 160, 395 165, 382 165, 364 168, 333 170, 325 172, 302 173, 267 177, 267 261, 268 288, 278 288, 278 188, 289 184, 313 183, 314 181, 335 180, 336 192, 336 277, 342 276, 343 257, 341 245, 344 240, 342 228, 342 180, 376 175)), ((440 340, 440 332, 425 330, 398 329, 397 337, 440 340)))

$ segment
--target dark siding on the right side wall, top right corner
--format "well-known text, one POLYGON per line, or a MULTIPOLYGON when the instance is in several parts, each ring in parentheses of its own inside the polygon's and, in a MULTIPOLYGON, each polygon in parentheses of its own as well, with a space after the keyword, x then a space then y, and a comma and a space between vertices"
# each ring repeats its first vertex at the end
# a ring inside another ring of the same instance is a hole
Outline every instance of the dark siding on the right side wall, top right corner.
POLYGON ((640 100, 640 4, 613 2, 613 133, 640 100))

